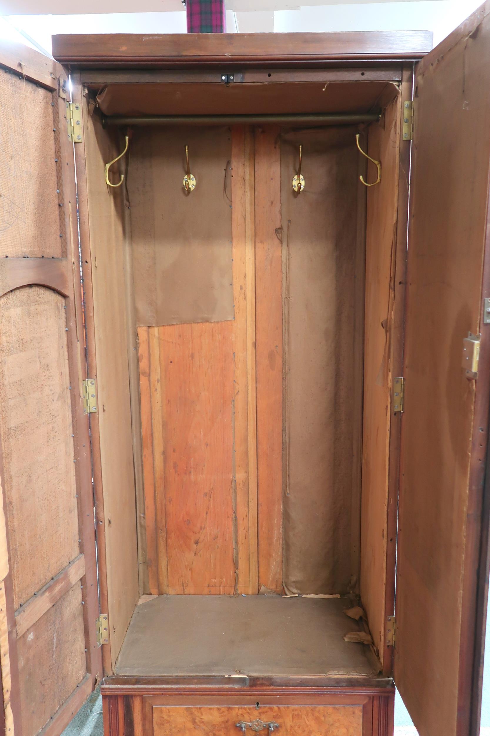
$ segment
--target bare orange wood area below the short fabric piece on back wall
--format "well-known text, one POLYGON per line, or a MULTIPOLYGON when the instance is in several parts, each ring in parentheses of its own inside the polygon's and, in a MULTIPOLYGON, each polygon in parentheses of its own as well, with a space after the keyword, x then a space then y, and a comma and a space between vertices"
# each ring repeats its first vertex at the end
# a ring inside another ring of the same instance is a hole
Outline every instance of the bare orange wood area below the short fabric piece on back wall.
MULTIPOLYGON (((159 347, 151 416, 153 441, 159 440, 153 445, 157 533, 164 506, 166 543, 158 553, 173 593, 234 591, 233 327, 229 321, 149 329, 159 347)), ((151 375, 155 370, 152 365, 151 375)), ((148 407, 142 411, 145 416, 148 407)))

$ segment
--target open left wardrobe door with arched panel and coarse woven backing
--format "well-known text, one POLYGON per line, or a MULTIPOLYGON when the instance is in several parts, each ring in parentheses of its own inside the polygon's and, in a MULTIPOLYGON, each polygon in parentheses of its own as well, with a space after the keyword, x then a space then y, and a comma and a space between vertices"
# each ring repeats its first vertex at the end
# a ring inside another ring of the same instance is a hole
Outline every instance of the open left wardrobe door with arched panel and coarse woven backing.
POLYGON ((101 673, 76 110, 25 46, 2 43, 0 96, 1 718, 58 736, 101 673))

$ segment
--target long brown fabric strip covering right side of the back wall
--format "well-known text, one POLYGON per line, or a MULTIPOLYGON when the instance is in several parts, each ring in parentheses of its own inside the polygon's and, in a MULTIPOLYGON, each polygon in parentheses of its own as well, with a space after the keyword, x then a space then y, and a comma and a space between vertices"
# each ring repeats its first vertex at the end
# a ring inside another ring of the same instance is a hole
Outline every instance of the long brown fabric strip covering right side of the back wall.
POLYGON ((281 140, 284 266, 284 590, 347 591, 351 506, 356 206, 355 130, 281 140), (299 196, 292 191, 303 145, 299 196))

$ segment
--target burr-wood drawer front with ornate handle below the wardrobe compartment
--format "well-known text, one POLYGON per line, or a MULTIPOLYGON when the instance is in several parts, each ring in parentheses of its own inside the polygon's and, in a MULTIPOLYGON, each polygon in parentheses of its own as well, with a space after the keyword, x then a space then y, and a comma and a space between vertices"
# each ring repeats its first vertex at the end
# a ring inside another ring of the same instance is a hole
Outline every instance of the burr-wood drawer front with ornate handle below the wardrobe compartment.
POLYGON ((152 708, 154 736, 363 736, 362 705, 152 708), (239 726, 237 726, 239 723, 239 726))

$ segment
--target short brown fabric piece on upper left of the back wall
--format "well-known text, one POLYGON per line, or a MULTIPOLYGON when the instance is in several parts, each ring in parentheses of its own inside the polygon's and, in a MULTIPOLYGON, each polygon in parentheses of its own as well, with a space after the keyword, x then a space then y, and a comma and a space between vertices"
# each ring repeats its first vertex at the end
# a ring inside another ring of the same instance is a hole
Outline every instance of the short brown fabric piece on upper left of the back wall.
POLYGON ((130 150, 137 325, 234 319, 229 128, 139 128, 130 150))

